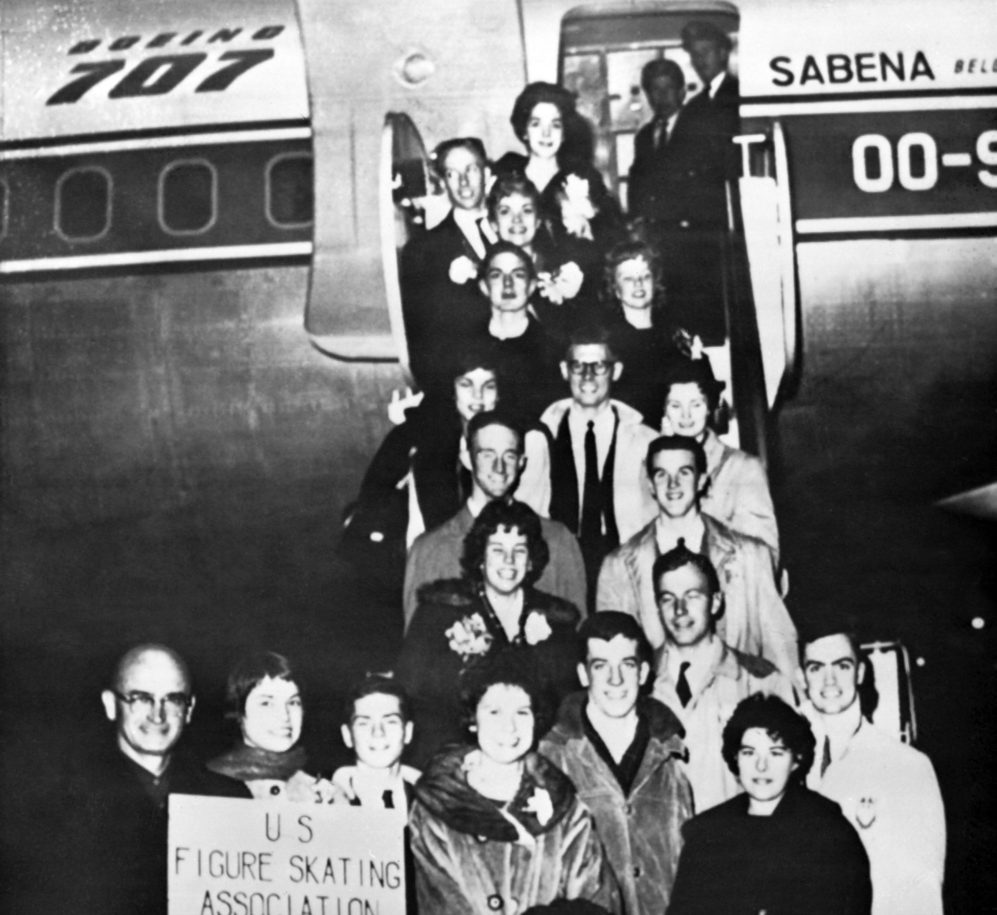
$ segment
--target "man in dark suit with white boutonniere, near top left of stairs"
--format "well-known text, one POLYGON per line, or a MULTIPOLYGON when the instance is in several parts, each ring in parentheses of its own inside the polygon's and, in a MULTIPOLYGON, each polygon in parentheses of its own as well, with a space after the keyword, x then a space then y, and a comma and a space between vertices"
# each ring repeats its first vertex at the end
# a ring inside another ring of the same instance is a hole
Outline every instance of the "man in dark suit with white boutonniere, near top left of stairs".
POLYGON ((401 263, 410 362, 424 387, 433 383, 437 355, 447 351, 448 342, 466 337, 489 313, 474 283, 451 281, 454 261, 463 257, 480 264, 495 240, 483 225, 488 159, 482 142, 477 137, 445 141, 433 152, 433 163, 451 209, 439 225, 409 241, 401 263))

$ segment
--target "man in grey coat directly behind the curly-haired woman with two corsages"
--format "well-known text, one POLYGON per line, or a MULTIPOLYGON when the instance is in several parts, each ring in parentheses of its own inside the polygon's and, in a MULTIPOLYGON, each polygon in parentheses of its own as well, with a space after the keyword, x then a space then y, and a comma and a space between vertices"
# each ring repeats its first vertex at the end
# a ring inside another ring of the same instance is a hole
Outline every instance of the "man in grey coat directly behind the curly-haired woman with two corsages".
MULTIPOLYGON (((464 538, 482 509, 497 499, 512 500, 525 467, 524 438, 518 420, 501 407, 480 413, 468 423, 468 452, 461 459, 471 470, 471 496, 449 521, 418 536, 409 550, 403 598, 406 628, 416 612, 419 589, 424 584, 461 574, 464 538)), ((550 561, 536 587, 569 601, 584 615, 585 566, 578 541, 558 521, 541 517, 540 528, 550 561)))

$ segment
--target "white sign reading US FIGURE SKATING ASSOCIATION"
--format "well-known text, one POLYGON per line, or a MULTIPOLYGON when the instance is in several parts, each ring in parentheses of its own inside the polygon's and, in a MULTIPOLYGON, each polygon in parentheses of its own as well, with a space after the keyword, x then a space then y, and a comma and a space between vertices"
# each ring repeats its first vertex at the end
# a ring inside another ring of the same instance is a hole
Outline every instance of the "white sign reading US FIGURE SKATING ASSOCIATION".
POLYGON ((169 915, 405 915, 404 815, 169 796, 169 915))

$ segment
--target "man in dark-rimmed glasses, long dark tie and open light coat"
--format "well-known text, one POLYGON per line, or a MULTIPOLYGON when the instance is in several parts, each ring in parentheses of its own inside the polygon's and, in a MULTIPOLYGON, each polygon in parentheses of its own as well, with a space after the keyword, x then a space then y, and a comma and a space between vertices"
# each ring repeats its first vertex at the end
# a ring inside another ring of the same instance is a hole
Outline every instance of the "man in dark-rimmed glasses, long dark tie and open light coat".
POLYGON ((657 514, 643 456, 657 433, 626 404, 612 399, 623 372, 602 328, 580 328, 560 363, 571 397, 540 417, 553 437, 550 517, 578 537, 592 609, 606 554, 657 514))

